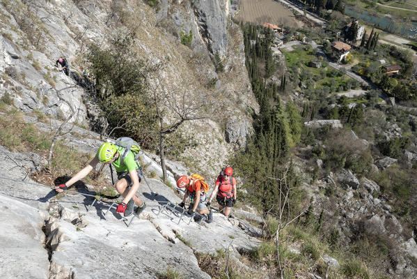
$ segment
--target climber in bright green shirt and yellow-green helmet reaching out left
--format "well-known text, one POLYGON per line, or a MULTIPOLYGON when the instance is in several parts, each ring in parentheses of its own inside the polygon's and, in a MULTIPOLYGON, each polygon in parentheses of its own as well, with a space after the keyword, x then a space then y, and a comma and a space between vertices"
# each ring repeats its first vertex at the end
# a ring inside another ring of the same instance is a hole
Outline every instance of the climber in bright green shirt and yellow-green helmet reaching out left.
POLYGON ((130 216, 132 215, 134 205, 136 204, 138 206, 136 214, 141 213, 145 208, 146 203, 142 202, 142 200, 136 196, 136 191, 139 190, 139 182, 141 181, 139 164, 136 163, 132 151, 129 151, 129 153, 122 158, 120 154, 123 154, 123 151, 125 151, 125 148, 121 146, 116 146, 111 142, 104 142, 104 144, 100 146, 100 149, 98 149, 93 160, 91 160, 84 169, 81 169, 81 171, 72 176, 65 184, 56 186, 56 191, 63 192, 63 190, 67 190, 67 188, 75 182, 84 179, 98 163, 112 164, 116 168, 119 179, 114 186, 118 193, 124 197, 123 201, 117 206, 116 212, 124 213, 125 217, 130 216))

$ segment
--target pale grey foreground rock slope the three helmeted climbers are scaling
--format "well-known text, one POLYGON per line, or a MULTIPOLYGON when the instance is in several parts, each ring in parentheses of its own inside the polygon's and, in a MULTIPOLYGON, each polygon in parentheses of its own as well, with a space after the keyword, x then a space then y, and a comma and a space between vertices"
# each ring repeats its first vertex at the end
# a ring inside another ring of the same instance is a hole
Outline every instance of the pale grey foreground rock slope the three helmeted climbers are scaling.
POLYGON ((26 167, 15 166, 32 167, 31 160, 26 163, 26 156, 2 146, 0 151, 7 155, 0 168, 1 278, 157 278, 170 266, 181 278, 209 279, 194 252, 215 254, 233 236, 230 252, 238 258, 237 250, 260 243, 251 237, 260 232, 239 218, 235 225, 220 213, 213 214, 210 224, 181 218, 180 212, 164 207, 180 197, 150 178, 159 194, 141 186, 138 195, 148 206, 127 227, 132 217, 123 218, 114 206, 104 215, 114 200, 96 201, 86 212, 91 197, 67 193, 55 199, 54 190, 27 178, 19 181, 26 167))

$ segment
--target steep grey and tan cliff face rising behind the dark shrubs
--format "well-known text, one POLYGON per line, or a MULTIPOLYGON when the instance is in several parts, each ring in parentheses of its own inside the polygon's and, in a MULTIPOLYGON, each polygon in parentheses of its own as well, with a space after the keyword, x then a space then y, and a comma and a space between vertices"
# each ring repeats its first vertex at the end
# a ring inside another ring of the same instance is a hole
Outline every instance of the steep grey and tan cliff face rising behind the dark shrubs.
POLYGON ((190 99, 198 92, 216 100, 202 115, 206 119, 184 123, 178 130, 183 134, 193 130, 213 143, 205 146, 196 137, 197 146, 187 153, 197 156, 203 150, 210 165, 196 160, 196 169, 214 176, 235 147, 246 144, 252 130, 249 111, 259 110, 245 67, 242 32, 230 18, 230 1, 162 0, 155 10, 145 1, 113 2, 17 0, 1 5, 0 69, 6 75, 0 77, 0 96, 7 92, 20 110, 58 119, 69 116, 72 107, 77 113, 71 122, 100 131, 106 120, 94 96, 77 83, 78 68, 88 66, 86 45, 106 47, 116 33, 134 29, 135 49, 143 59, 164 63, 159 82, 167 90, 185 92, 190 99), (181 44, 181 36, 190 31, 188 47, 181 44), (220 75, 212 62, 216 53, 225 69, 220 75), (69 77, 54 67, 58 56, 70 63, 69 77), (224 102, 219 103, 221 98, 224 102), (224 119, 235 115, 239 121, 230 122, 225 132, 224 119))

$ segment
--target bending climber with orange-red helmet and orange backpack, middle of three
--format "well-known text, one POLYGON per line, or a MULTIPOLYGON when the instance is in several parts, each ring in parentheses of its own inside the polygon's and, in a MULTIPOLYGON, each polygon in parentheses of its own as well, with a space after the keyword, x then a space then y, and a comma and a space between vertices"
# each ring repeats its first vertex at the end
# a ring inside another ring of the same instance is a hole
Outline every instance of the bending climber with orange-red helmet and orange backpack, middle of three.
MULTIPOLYGON (((193 174, 190 177, 186 175, 180 176, 177 180, 178 188, 187 187, 185 190, 185 195, 182 198, 182 202, 178 204, 182 208, 185 208, 185 202, 187 201, 187 197, 191 198, 191 203, 189 205, 189 209, 187 213, 191 216, 194 216, 196 210, 200 215, 205 215, 206 222, 212 223, 213 220, 213 212, 207 209, 205 205, 206 193, 208 190, 208 184, 203 181, 203 176, 198 174, 193 174)), ((194 220, 200 220, 199 216, 194 216, 194 220)))

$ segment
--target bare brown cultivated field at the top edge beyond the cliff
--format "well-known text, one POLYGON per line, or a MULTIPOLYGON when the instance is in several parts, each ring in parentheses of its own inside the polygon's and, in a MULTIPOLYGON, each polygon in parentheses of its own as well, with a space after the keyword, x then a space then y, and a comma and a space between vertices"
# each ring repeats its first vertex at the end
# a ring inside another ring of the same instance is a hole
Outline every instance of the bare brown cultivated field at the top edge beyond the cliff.
POLYGON ((239 13, 235 19, 256 24, 272 23, 278 27, 301 27, 290 10, 272 0, 239 0, 239 13))

